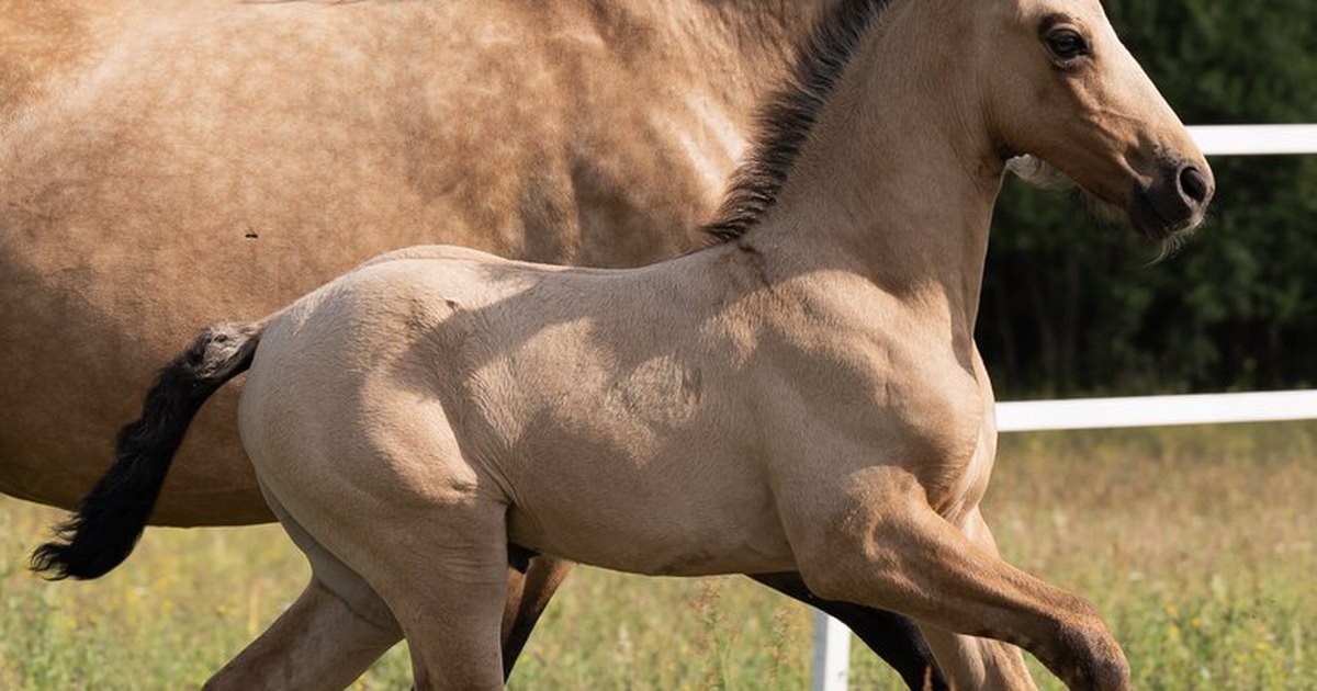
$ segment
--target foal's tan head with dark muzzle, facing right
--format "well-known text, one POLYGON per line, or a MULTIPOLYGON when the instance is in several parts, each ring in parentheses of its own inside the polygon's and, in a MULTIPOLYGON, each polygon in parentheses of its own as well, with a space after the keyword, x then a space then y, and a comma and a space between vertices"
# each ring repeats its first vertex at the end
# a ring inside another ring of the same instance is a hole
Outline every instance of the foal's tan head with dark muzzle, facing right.
POLYGON ((1002 157, 1044 161, 1154 240, 1202 222, 1212 168, 1098 0, 934 4, 972 16, 947 50, 963 53, 1002 157))

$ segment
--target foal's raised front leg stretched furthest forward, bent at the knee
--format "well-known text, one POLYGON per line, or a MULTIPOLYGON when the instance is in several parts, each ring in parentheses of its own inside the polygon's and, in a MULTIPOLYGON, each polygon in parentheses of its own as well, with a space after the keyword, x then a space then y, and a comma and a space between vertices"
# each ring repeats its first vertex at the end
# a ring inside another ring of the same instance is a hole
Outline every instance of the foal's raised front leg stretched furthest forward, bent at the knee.
POLYGON ((1129 688, 1125 654, 1092 604, 971 541, 906 470, 869 467, 842 482, 826 500, 780 504, 811 591, 1018 645, 1071 688, 1129 688))

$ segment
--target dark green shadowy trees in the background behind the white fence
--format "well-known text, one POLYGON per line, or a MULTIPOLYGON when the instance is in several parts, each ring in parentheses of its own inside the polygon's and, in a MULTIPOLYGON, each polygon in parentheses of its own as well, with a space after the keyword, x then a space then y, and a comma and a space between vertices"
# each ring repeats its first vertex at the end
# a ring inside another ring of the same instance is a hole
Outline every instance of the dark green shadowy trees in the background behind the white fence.
MULTIPOLYGON (((1191 125, 1317 122, 1317 3, 1106 0, 1191 125)), ((1217 199, 1180 253, 1010 180, 979 344, 998 395, 1317 384, 1317 157, 1212 159, 1217 199)))

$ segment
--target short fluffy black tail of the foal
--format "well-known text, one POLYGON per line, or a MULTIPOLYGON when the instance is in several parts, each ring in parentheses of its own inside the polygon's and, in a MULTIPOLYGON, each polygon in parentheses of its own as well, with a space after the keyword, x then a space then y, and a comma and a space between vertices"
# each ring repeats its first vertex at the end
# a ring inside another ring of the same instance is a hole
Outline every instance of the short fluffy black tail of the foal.
POLYGON ((225 382, 252 366, 269 320, 205 329, 159 371, 142 416, 119 433, 115 465, 55 528, 57 541, 32 554, 32 570, 51 580, 99 578, 133 551, 155 507, 187 425, 225 382))

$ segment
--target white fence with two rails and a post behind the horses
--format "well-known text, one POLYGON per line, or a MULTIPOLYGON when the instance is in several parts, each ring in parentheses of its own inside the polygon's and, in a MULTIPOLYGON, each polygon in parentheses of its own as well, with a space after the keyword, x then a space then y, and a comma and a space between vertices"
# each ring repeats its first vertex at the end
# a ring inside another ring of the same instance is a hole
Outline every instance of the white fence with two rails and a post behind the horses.
MULTIPOLYGON (((1317 154, 1317 125, 1208 125, 1189 134, 1206 155, 1317 154)), ((1317 390, 1268 394, 1206 394, 997 404, 997 429, 1100 429, 1317 419, 1317 390)), ((844 691, 851 630, 815 613, 814 691, 844 691)))

